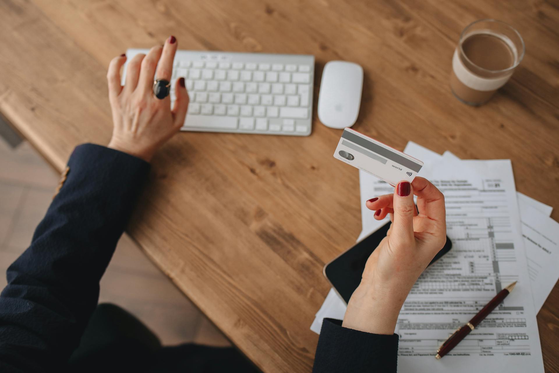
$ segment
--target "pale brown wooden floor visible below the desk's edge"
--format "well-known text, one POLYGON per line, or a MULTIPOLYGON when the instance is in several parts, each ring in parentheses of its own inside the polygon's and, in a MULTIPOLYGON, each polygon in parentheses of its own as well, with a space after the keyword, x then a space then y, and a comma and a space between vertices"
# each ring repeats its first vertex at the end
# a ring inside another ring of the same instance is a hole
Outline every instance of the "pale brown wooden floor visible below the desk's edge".
MULTIPOLYGON (((7 267, 31 242, 58 179, 29 143, 13 149, 0 138, 0 289, 7 267)), ((167 345, 230 344, 127 235, 101 281, 100 302, 130 311, 167 345)))

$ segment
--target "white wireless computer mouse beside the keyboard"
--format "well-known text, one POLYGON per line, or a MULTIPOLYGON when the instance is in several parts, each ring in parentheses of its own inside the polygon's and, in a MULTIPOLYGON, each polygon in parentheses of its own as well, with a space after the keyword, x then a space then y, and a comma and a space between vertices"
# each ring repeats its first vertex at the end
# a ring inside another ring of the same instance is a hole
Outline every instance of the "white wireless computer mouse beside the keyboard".
POLYGON ((353 62, 330 61, 324 67, 318 96, 318 117, 330 128, 351 127, 357 120, 363 90, 363 68, 353 62))

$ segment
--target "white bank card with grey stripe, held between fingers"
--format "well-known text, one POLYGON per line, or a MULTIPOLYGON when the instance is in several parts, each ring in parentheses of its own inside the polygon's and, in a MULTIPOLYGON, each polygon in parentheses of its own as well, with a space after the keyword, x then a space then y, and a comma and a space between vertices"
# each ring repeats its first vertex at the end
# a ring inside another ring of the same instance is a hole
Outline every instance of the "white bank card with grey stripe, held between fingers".
POLYGON ((392 186, 402 180, 412 182, 423 167, 420 160, 350 128, 344 129, 334 158, 362 169, 392 186))

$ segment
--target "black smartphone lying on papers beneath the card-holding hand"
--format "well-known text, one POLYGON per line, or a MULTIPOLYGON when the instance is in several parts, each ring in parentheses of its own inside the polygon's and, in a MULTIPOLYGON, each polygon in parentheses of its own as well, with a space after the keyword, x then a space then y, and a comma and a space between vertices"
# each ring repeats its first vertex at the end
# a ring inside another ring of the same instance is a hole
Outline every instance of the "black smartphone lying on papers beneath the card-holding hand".
MULTIPOLYGON (((381 228, 378 228, 375 232, 369 234, 324 266, 324 276, 330 281, 330 284, 332 284, 338 294, 342 296, 345 303, 348 303, 349 298, 351 298, 359 282, 361 282, 365 263, 381 240, 386 237, 386 232, 388 232, 390 224, 392 223, 389 222, 381 226, 381 228)), ((452 242, 447 236, 447 242, 437 255, 435 255, 433 260, 429 263, 429 266, 446 254, 451 248, 452 242)))

